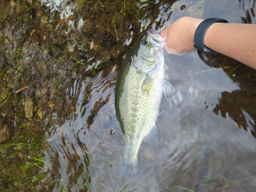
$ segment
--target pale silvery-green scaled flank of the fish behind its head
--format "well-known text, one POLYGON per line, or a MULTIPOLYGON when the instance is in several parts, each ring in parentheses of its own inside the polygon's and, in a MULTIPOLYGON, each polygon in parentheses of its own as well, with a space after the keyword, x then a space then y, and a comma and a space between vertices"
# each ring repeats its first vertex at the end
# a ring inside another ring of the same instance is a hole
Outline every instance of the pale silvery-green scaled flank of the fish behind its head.
MULTIPOLYGON (((146 75, 139 74, 134 67, 129 66, 127 68, 129 68, 129 74, 123 79, 126 88, 117 96, 120 98, 120 103, 126 104, 118 105, 117 108, 120 114, 121 128, 126 138, 125 141, 136 140, 137 145, 140 145, 144 136, 155 124, 162 91, 162 87, 159 85, 163 83, 163 79, 157 78, 151 91, 142 92, 141 86, 146 75), (131 81, 132 79, 137 81, 131 81)), ((159 70, 158 73, 151 76, 163 76, 162 72, 159 70)), ((137 152, 135 154, 135 157, 137 157, 137 152)))

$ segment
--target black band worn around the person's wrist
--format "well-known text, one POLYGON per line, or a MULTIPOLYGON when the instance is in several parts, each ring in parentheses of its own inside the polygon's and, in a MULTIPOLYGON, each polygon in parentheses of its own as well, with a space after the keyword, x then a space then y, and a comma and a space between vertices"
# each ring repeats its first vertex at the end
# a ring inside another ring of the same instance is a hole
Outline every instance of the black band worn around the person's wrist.
POLYGON ((211 49, 209 49, 207 46, 204 45, 204 35, 207 31, 207 29, 215 22, 226 22, 228 23, 227 20, 225 19, 220 19, 220 18, 208 18, 203 20, 199 26, 197 27, 197 30, 195 32, 195 36, 194 36, 194 47, 202 52, 205 53, 210 53, 210 54, 214 54, 214 55, 218 55, 218 52, 215 52, 211 49))

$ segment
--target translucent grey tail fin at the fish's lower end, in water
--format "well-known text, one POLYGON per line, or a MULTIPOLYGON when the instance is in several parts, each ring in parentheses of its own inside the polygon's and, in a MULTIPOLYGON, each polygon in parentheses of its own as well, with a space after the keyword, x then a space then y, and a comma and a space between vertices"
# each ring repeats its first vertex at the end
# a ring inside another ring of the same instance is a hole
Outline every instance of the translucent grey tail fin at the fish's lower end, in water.
POLYGON ((128 161, 123 158, 123 156, 120 157, 118 167, 117 167, 117 173, 118 175, 126 175, 130 178, 136 177, 138 174, 138 158, 136 157, 135 161, 128 161))

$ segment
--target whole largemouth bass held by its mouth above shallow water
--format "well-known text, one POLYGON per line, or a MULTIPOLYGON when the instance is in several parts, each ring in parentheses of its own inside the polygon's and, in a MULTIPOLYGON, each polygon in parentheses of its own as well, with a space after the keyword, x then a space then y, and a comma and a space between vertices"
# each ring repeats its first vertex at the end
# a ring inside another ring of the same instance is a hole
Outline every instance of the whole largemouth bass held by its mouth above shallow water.
POLYGON ((142 140, 152 143, 158 137, 156 119, 164 86, 174 91, 164 80, 165 42, 166 38, 147 31, 126 57, 118 77, 115 108, 124 134, 117 170, 121 175, 137 175, 137 154, 142 140))

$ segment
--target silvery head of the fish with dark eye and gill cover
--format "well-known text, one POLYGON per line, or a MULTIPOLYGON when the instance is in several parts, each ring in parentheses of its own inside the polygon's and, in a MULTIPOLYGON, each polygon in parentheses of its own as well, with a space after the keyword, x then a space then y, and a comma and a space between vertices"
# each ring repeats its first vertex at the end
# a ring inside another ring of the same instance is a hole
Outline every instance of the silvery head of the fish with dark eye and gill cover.
POLYGON ((143 73, 151 73, 160 63, 166 38, 161 35, 146 31, 136 45, 134 66, 143 73))

